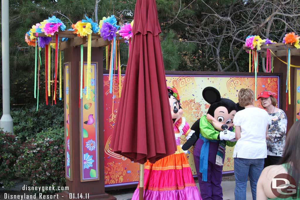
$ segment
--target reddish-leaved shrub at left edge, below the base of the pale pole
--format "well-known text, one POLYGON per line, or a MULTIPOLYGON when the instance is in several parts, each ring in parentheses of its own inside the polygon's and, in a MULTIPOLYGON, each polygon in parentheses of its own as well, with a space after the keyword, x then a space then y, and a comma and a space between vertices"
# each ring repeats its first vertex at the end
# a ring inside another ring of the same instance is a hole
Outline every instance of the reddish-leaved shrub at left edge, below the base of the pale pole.
POLYGON ((15 185, 14 166, 20 143, 20 140, 12 133, 4 133, 0 130, 0 187, 5 190, 15 185))

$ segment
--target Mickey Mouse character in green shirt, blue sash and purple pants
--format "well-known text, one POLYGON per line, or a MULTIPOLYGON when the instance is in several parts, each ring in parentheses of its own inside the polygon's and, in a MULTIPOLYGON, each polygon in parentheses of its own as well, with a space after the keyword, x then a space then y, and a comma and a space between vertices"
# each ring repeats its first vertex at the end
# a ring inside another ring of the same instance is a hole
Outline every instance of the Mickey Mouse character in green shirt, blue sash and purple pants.
POLYGON ((222 200, 225 146, 232 147, 236 143, 232 121, 238 105, 230 99, 221 98, 220 92, 213 87, 204 88, 202 96, 211 105, 207 115, 198 119, 187 131, 187 134, 193 134, 182 149, 188 150, 195 145, 193 154, 202 199, 222 200))

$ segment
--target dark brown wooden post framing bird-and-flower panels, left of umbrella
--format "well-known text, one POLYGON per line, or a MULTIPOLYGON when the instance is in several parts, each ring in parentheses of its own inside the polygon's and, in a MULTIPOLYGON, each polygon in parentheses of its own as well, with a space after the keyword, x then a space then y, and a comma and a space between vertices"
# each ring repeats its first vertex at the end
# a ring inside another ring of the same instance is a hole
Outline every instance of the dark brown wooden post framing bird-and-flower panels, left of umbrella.
MULTIPOLYGON (((87 48, 84 48, 84 61, 87 61, 87 48)), ((82 179, 82 160, 80 155, 82 154, 80 150, 80 142, 81 142, 81 129, 80 123, 81 115, 79 109, 79 85, 80 85, 80 46, 69 46, 64 49, 64 67, 68 67, 68 72, 65 73, 64 81, 68 80, 68 95, 66 95, 66 88, 64 88, 65 98, 68 98, 68 101, 65 99, 65 138, 67 134, 69 136, 69 142, 65 139, 65 154, 68 153, 69 160, 66 157, 66 186, 68 187, 67 191, 63 191, 58 193, 59 199, 101 199, 101 200, 113 200, 115 197, 105 193, 104 191, 104 134, 103 134, 103 48, 101 47, 92 47, 91 49, 91 62, 98 63, 97 74, 98 80, 96 82, 95 88, 97 91, 97 101, 95 102, 97 112, 95 121, 96 126, 98 126, 98 141, 96 144, 96 149, 98 150, 98 160, 97 158, 93 158, 94 165, 95 163, 98 165, 97 170, 99 170, 98 179, 91 180, 83 180, 82 179), (68 77, 66 77, 68 76, 68 77), (68 102, 68 106, 66 103, 68 102), (98 104, 98 105, 97 105, 98 104), (68 115, 66 115, 66 109, 68 109, 68 115), (67 127, 69 129, 66 131, 67 127), (67 132, 67 133, 66 133, 67 132), (69 145, 69 147, 68 147, 69 145), (67 166, 67 164, 69 166, 67 166), (70 171, 68 170, 70 169, 70 171), (69 174, 70 172, 70 174, 69 174)), ((85 72, 84 72, 85 73, 85 72)), ((84 146, 83 146, 84 147, 84 146)), ((82 148, 82 145, 81 145, 82 148)))

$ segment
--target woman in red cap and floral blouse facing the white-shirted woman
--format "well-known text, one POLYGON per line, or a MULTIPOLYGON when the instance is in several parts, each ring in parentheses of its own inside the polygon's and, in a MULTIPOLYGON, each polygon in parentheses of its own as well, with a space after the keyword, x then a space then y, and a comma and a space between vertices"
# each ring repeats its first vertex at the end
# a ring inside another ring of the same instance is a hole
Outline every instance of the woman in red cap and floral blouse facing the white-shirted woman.
POLYGON ((257 100, 260 99, 262 107, 269 114, 269 129, 266 137, 268 155, 265 158, 264 167, 279 163, 279 160, 283 156, 286 139, 286 114, 283 110, 276 108, 277 100, 274 96, 277 96, 275 92, 262 91, 257 97, 257 100))

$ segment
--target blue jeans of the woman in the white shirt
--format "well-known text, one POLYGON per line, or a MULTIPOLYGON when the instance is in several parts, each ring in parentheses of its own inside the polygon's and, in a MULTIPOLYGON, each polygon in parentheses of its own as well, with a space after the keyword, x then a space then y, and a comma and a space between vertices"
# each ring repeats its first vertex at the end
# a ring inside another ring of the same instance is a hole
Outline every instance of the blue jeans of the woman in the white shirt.
POLYGON ((256 184, 262 172, 265 159, 234 158, 235 200, 246 200, 249 175, 253 200, 256 200, 256 184))

